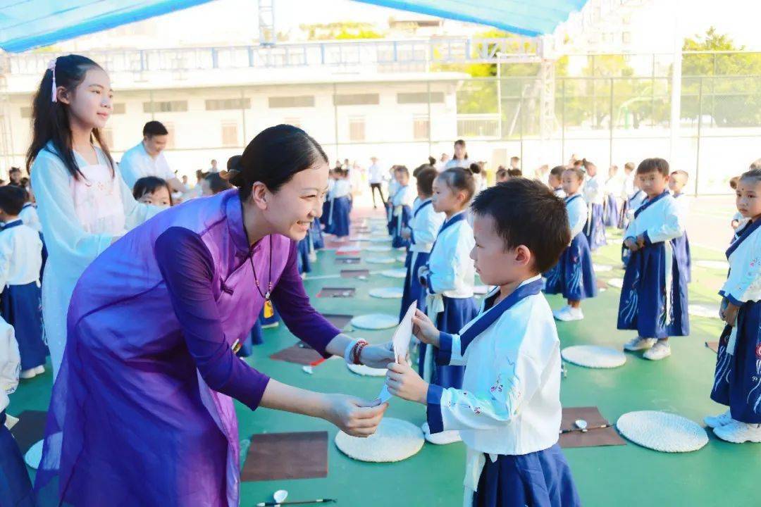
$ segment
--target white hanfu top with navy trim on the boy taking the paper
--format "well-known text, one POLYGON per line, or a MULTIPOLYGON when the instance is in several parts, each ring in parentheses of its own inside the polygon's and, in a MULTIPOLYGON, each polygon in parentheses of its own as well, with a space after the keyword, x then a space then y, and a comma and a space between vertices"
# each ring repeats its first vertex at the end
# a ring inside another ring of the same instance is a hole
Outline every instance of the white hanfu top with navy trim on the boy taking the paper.
POLYGON ((470 505, 485 454, 492 461, 496 455, 525 455, 559 439, 560 341, 540 292, 540 275, 524 280, 512 296, 530 284, 540 285, 517 303, 508 296, 485 309, 498 296, 495 287, 459 334, 441 333, 439 362, 465 366, 465 374, 460 389, 428 389, 428 424, 431 432, 460 430, 468 450, 465 505, 470 505))

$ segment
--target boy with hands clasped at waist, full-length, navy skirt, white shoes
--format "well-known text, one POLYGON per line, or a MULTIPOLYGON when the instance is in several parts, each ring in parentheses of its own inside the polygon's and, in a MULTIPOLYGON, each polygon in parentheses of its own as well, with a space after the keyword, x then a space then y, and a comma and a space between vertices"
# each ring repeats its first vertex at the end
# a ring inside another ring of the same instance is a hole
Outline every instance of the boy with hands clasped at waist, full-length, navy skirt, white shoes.
POLYGON ((689 334, 687 259, 677 246, 684 224, 667 189, 666 160, 642 160, 637 178, 648 197, 624 233, 631 257, 623 277, 618 328, 638 333, 624 345, 626 350, 645 350, 645 359, 662 360, 671 355, 670 336, 689 334))

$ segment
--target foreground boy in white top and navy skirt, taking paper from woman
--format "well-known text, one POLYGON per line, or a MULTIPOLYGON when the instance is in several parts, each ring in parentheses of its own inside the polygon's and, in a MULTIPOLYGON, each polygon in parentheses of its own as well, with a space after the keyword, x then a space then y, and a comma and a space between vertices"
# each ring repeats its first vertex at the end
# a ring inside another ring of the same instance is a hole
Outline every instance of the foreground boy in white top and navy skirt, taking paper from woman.
POLYGON ((565 206, 542 182, 514 178, 481 192, 471 209, 471 257, 483 283, 497 287, 456 333, 415 316, 416 337, 438 347, 438 362, 465 366, 462 388, 391 363, 388 389, 428 406, 431 433, 460 430, 463 505, 581 505, 558 445, 560 343, 540 275, 571 241, 565 206))

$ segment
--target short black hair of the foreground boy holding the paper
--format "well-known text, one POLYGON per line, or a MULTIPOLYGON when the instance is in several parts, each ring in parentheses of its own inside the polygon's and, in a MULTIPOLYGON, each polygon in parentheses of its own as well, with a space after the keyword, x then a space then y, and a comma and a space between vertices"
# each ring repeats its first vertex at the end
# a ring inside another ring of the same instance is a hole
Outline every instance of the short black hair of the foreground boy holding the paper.
POLYGON ((489 187, 476 196, 471 209, 481 217, 492 217, 505 250, 526 246, 537 273, 556 265, 571 242, 565 202, 533 179, 508 179, 489 187))

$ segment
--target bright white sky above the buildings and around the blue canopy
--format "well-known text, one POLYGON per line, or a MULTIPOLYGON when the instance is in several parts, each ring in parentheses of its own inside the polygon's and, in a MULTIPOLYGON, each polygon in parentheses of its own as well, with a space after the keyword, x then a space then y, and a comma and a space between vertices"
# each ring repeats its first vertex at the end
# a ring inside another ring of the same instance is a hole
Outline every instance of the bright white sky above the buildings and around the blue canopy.
MULTIPOLYGON (((275 4, 275 30, 297 30, 300 24, 329 23, 331 21, 366 21, 386 24, 389 17, 421 17, 419 14, 396 11, 352 0, 272 0, 275 4)), ((654 41, 671 39, 673 19, 670 16, 673 2, 679 2, 680 32, 682 36, 704 33, 715 26, 720 33, 728 33, 737 44, 748 49, 761 49, 759 18, 761 2, 757 0, 643 0, 651 4, 638 9, 633 17, 632 30, 652 33, 654 41), (721 7, 718 8, 717 5, 721 7)), ((161 27, 160 41, 152 45, 173 46, 188 43, 240 43, 241 40, 258 40, 257 0, 215 0, 204 5, 177 11, 154 20, 143 22, 161 27), (211 21, 210 21, 211 20, 211 21)), ((134 27, 134 25, 132 25, 134 27)), ((486 30, 470 27, 468 30, 486 30)), ((154 37, 155 39, 155 37, 154 37)), ((649 49, 649 48, 648 48, 649 49)))

